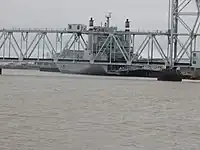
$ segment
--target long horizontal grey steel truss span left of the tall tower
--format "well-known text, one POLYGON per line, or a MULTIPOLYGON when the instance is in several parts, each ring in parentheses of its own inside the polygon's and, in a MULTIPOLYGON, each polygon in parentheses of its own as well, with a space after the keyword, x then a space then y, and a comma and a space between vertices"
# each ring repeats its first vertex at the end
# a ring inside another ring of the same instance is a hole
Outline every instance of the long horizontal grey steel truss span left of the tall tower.
MULTIPOLYGON (((95 63, 98 58, 104 54, 108 55, 106 63, 116 63, 113 60, 115 51, 123 56, 123 64, 131 65, 135 63, 145 62, 150 64, 155 61, 155 53, 157 53, 156 61, 163 64, 170 64, 170 49, 167 45, 170 34, 168 32, 125 32, 117 31, 109 32, 67 32, 64 30, 46 30, 46 29, 13 29, 0 30, 0 54, 1 58, 18 58, 20 61, 24 59, 37 58, 47 59, 45 53, 50 53, 50 58, 54 60, 65 59, 64 54, 68 50, 83 51, 87 50, 87 40, 85 36, 103 34, 107 35, 102 47, 93 54, 90 63, 95 63), (121 36, 129 37, 129 47, 123 45, 120 40, 121 36), (161 41, 162 40, 162 41, 161 41), (114 45, 114 47, 112 46, 114 45), (143 59, 141 59, 141 57, 143 59), (145 58, 144 58, 145 57, 145 58), (158 59, 159 58, 159 59, 158 59)), ((174 34, 177 35, 177 34, 174 34)), ((179 37, 188 34, 179 34, 179 37)), ((195 34, 195 37, 199 34, 195 34)), ((178 40, 179 42, 179 40, 178 40)), ((186 52, 188 53, 188 52, 186 52)), ((188 53, 188 56, 190 54, 188 53)), ((73 60, 76 61, 76 60, 73 60)), ((77 60, 78 61, 78 60, 77 60)))

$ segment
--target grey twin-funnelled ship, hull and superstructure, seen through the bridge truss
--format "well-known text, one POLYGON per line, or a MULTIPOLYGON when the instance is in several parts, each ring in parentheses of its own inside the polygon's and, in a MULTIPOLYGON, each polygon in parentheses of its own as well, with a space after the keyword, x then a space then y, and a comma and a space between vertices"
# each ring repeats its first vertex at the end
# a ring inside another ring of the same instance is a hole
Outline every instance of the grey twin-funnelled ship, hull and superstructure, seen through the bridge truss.
MULTIPOLYGON (((105 44, 105 41, 108 39, 108 33, 118 32, 117 27, 110 26, 110 18, 111 14, 106 16, 106 23, 104 26, 94 26, 93 18, 89 20, 89 34, 88 34, 88 42, 87 48, 85 50, 70 50, 65 49, 60 54, 59 59, 64 59, 65 61, 57 62, 57 66, 61 73, 68 74, 89 74, 89 75, 117 75, 120 67, 117 65, 110 65, 108 62, 111 60, 112 62, 124 63, 126 62, 123 54, 121 53, 121 48, 117 43, 109 43, 108 47, 105 49, 105 53, 101 54, 98 57, 95 57, 95 62, 91 63, 91 60, 96 56, 99 50, 105 44), (95 34, 90 34, 91 32, 95 32, 95 34), (105 34, 102 34, 105 33, 105 34), (110 52, 110 47, 114 49, 114 51, 110 52), (78 60, 78 61, 77 61, 78 60), (105 63, 104 63, 105 62, 105 63), (112 68, 112 69, 111 69, 112 68), (113 71, 113 68, 114 71, 113 71)), ((130 22, 128 19, 125 20, 125 31, 130 31, 130 22)), ((86 26, 82 24, 69 24, 68 31, 82 32, 86 30, 86 26)), ((118 38, 123 46, 127 50, 130 49, 130 37, 128 35, 118 35, 118 38)), ((133 53, 130 54, 133 56, 133 53)))

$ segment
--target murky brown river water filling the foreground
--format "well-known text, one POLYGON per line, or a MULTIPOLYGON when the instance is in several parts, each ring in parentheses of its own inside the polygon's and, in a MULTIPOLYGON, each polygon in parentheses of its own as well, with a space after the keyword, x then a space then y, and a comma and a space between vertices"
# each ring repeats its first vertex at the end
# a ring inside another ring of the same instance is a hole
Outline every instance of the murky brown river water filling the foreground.
POLYGON ((3 70, 0 150, 199 150, 200 81, 3 70))

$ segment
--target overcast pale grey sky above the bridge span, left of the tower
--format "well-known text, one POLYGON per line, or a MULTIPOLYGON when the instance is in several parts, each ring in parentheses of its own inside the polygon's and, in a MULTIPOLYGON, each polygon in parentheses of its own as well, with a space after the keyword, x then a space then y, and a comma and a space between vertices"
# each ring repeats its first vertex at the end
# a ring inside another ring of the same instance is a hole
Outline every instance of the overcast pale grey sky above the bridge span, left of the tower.
POLYGON ((96 24, 112 12, 112 24, 132 29, 166 29, 168 0, 1 0, 0 28, 65 28, 68 23, 96 24))

